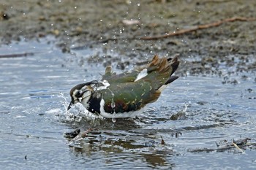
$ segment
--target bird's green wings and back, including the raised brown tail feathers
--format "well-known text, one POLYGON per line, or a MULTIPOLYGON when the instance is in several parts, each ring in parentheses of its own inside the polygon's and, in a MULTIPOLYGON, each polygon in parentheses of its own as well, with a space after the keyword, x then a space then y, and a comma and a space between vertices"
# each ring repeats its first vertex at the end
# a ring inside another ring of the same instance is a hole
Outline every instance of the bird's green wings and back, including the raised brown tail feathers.
POLYGON ((177 58, 160 59, 155 55, 146 69, 115 74, 111 67, 107 67, 102 76, 102 80, 108 80, 110 84, 102 90, 105 112, 134 111, 157 101, 161 93, 159 88, 178 78, 171 76, 178 64, 177 58))

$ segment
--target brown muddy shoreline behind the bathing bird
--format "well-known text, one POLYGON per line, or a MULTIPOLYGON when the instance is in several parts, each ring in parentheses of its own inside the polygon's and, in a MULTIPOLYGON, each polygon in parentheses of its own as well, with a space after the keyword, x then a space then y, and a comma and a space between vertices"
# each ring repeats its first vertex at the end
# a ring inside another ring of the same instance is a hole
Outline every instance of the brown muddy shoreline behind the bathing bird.
POLYGON ((232 74, 255 72, 256 20, 170 36, 171 31, 225 18, 255 18, 256 1, 7 1, 0 3, 0 45, 56 36, 64 53, 90 47, 99 53, 86 61, 118 69, 148 61, 152 55, 180 55, 178 72, 232 74), (99 50, 102 49, 102 50, 99 50), (225 69, 225 68, 224 68, 225 69))

